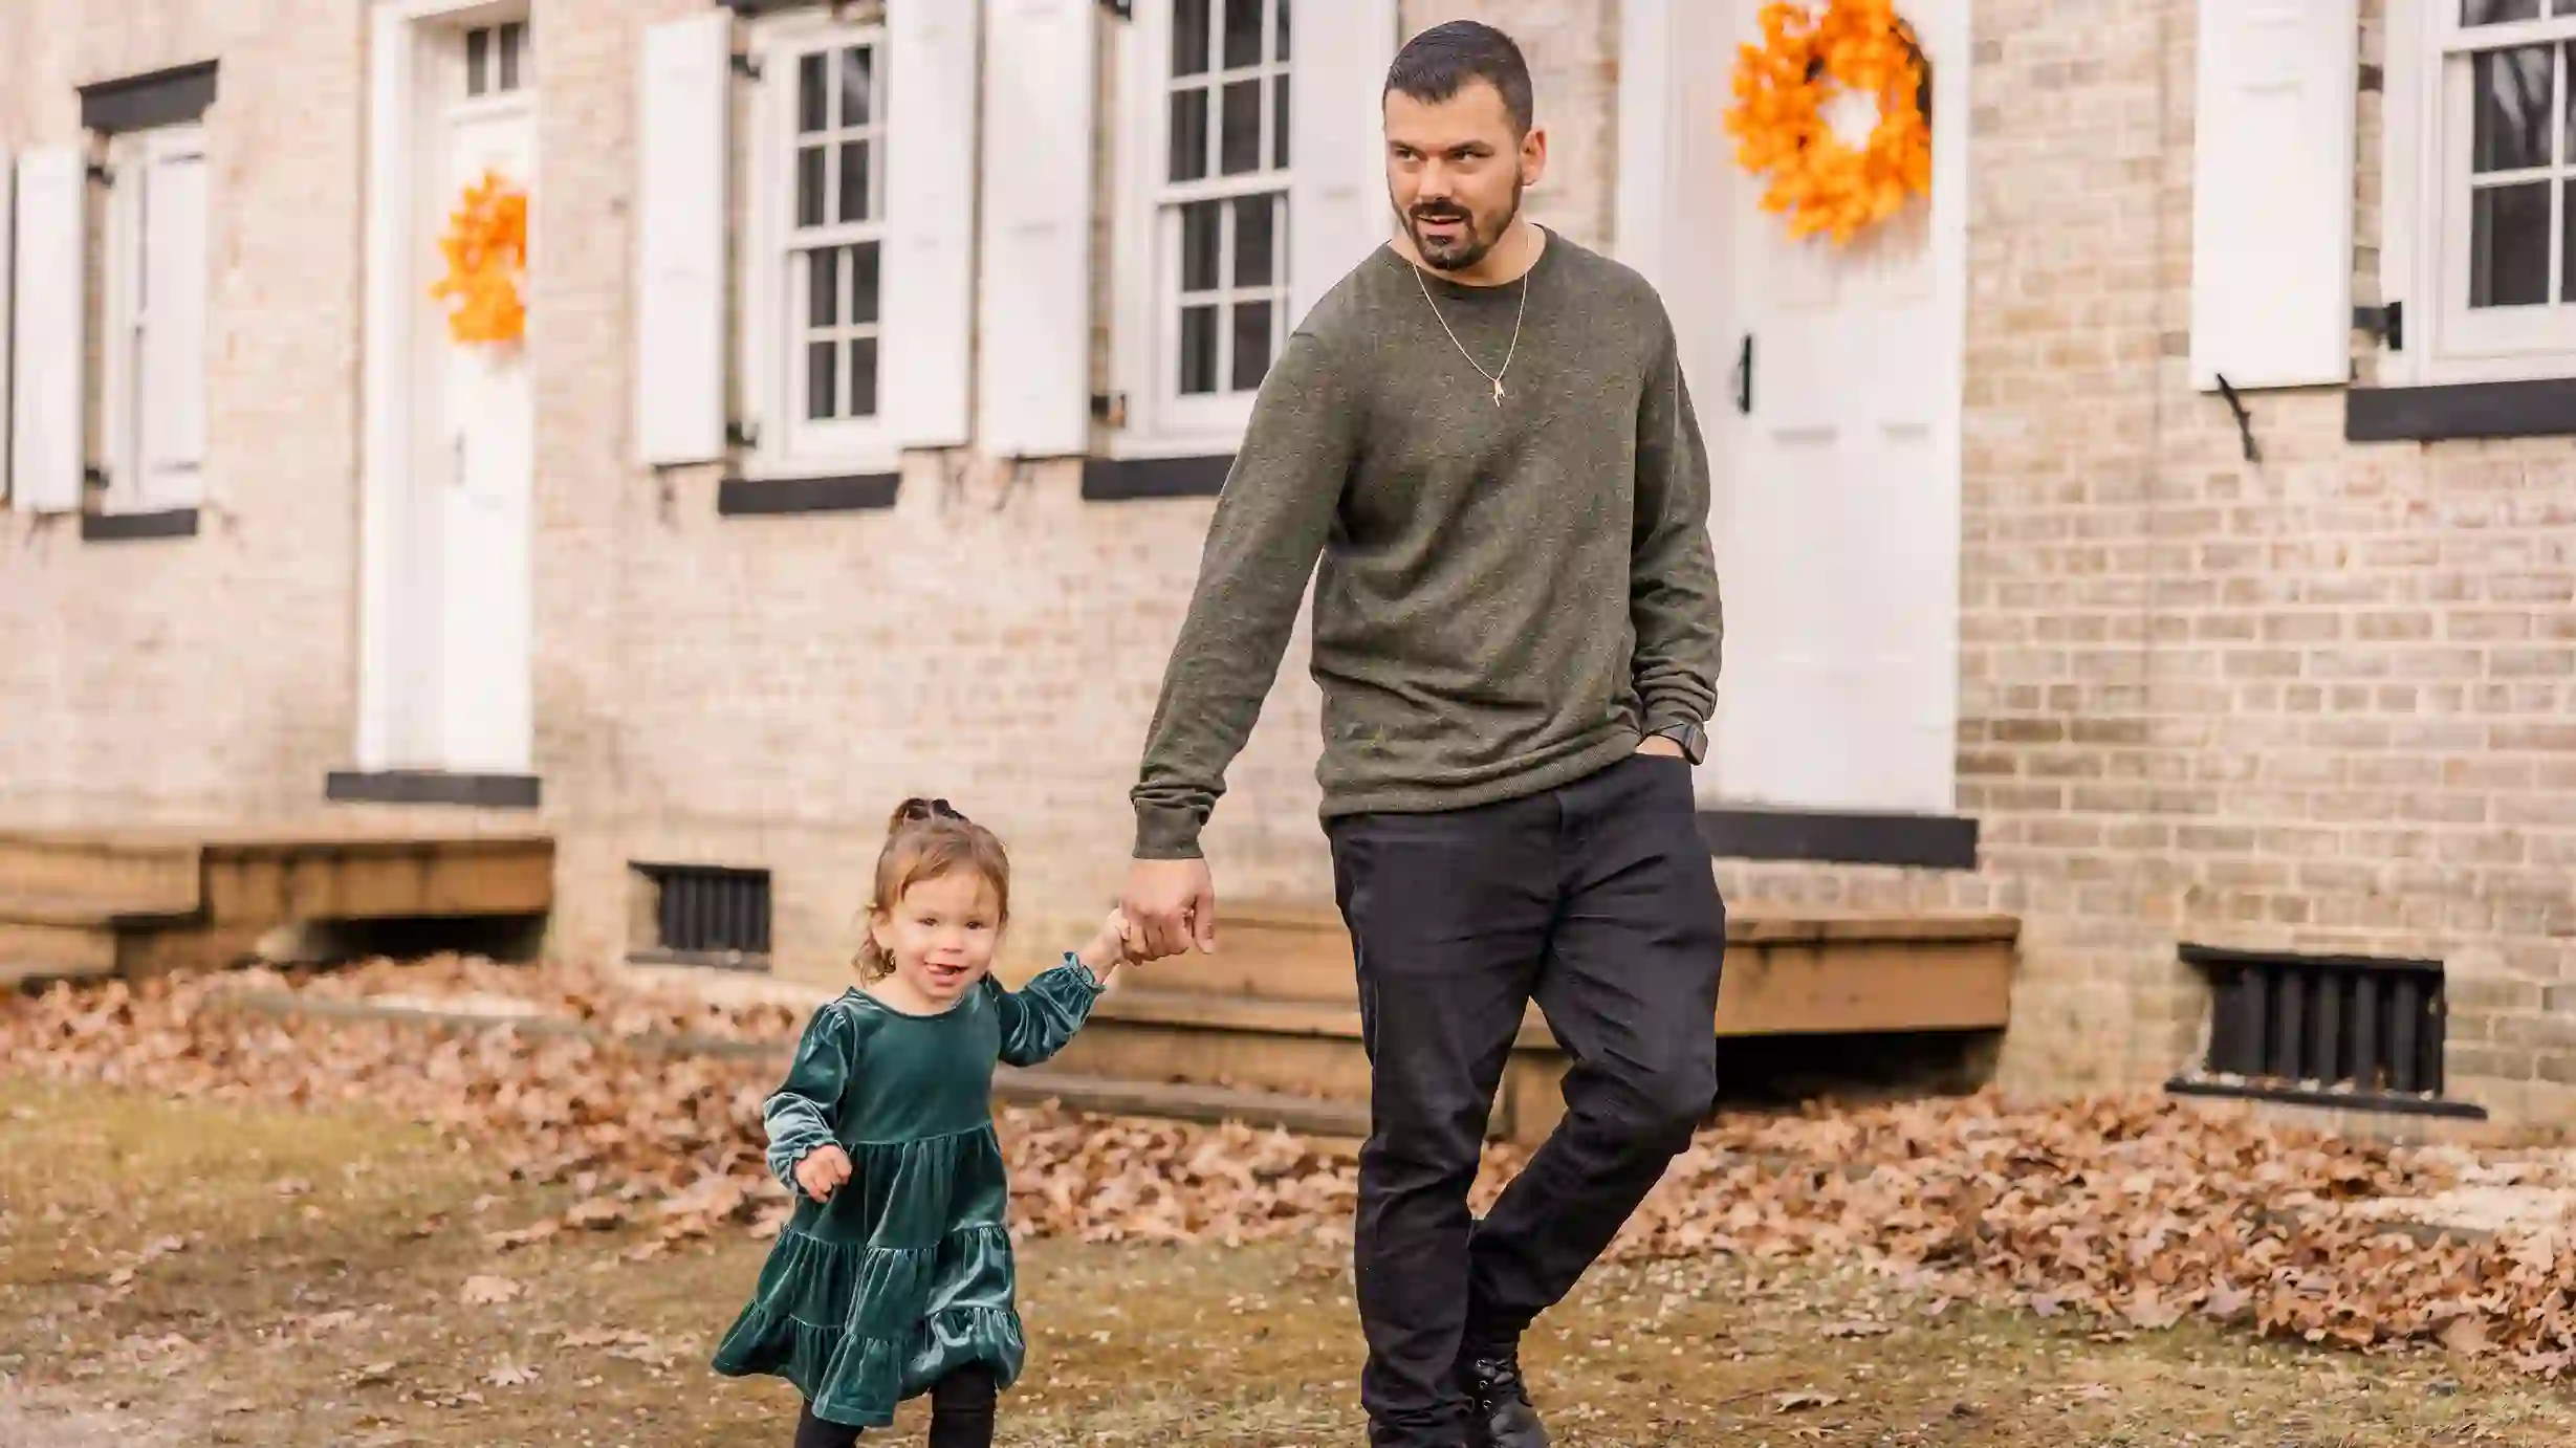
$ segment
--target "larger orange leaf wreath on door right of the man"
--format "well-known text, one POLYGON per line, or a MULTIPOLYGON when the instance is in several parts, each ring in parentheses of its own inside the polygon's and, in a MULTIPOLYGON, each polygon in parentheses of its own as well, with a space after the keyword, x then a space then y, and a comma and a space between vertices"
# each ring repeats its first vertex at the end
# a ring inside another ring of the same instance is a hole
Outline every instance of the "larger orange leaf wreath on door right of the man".
POLYGON ((1770 173, 1765 211, 1785 211, 1790 237, 1834 245, 1886 222, 1906 196, 1932 193, 1932 124, 1922 113, 1922 54, 1893 0, 1772 0, 1762 44, 1736 57, 1726 129, 1736 162, 1770 173), (1824 121, 1850 90, 1878 100, 1878 126, 1852 149, 1824 121))

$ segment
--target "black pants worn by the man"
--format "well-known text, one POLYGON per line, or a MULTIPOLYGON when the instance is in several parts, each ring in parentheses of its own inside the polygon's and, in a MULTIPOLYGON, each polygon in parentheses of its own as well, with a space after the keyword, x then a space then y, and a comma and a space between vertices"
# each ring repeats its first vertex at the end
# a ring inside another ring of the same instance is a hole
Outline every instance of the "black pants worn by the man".
POLYGON ((1461 1345, 1517 1337, 1564 1299, 1716 1103, 1726 907, 1674 757, 1327 832, 1373 1067, 1360 1404, 1370 1443, 1453 1445, 1461 1345), (1466 1193, 1530 1000, 1574 1056, 1566 1118, 1473 1221, 1466 1193))

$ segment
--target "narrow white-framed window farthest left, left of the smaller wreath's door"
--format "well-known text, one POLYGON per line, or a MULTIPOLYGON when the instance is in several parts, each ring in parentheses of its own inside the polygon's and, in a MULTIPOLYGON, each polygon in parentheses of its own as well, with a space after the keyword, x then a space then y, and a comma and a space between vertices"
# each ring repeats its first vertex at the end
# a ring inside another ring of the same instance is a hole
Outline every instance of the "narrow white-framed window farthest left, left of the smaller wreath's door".
POLYGON ((103 502, 193 508, 206 459, 206 131, 121 131, 108 175, 103 502))

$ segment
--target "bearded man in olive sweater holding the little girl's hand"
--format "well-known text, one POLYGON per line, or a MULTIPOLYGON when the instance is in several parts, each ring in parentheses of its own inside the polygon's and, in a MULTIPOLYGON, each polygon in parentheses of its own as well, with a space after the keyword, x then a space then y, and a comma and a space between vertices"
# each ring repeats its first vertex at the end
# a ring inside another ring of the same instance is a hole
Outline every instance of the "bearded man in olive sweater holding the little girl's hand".
POLYGON ((1198 830, 1314 593, 1324 827, 1358 958, 1360 1402, 1381 1445, 1548 1443, 1522 1329, 1716 1098, 1723 904, 1690 768, 1716 703, 1708 464, 1672 322, 1520 216, 1546 170, 1520 49, 1425 31, 1383 93, 1401 234, 1252 410, 1136 783, 1139 951, 1216 948, 1198 830), (1522 1013, 1566 1118, 1466 1206, 1522 1013))

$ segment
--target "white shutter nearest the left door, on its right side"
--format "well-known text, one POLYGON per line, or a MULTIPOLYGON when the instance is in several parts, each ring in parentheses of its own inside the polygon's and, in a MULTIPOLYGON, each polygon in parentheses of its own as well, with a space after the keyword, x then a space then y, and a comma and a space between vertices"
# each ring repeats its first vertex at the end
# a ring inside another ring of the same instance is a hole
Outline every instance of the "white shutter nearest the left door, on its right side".
POLYGON ((724 456, 724 227, 732 15, 644 31, 636 119, 636 459, 724 456))

